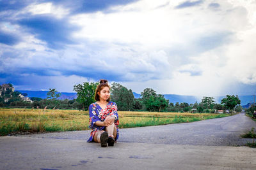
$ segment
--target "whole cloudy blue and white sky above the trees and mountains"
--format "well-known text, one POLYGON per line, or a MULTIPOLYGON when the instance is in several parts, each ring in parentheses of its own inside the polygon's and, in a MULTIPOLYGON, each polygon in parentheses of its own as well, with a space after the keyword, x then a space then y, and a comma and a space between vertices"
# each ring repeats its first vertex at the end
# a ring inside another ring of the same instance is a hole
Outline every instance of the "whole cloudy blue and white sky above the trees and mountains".
POLYGON ((256 92, 255 0, 0 0, 0 83, 72 92, 105 78, 140 93, 256 92))

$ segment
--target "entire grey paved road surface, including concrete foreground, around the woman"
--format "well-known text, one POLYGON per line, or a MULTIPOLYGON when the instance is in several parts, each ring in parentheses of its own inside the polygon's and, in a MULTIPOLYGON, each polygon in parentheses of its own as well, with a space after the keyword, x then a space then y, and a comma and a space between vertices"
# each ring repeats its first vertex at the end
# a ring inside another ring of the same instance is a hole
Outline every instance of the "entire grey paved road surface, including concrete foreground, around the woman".
POLYGON ((114 147, 86 143, 90 131, 0 138, 0 169, 256 169, 240 134, 244 113, 186 124, 121 129, 114 147))

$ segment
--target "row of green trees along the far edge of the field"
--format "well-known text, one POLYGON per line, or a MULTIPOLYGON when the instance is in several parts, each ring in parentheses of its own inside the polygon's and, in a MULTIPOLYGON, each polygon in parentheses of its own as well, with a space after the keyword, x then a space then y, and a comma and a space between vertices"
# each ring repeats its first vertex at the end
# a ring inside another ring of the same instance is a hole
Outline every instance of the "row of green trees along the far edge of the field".
MULTIPOLYGON (((95 102, 95 89, 99 85, 97 82, 84 82, 74 85, 77 92, 77 99, 59 100, 61 93, 56 89, 49 89, 47 98, 30 97, 33 103, 22 101, 20 92, 5 90, 1 92, 1 107, 28 107, 28 108, 49 108, 49 109, 74 109, 88 110, 91 103, 95 102), (9 97, 6 101, 6 96, 9 97), (4 101, 5 100, 5 101, 4 101)), ((26 94, 23 94, 26 96, 26 94)), ((157 94, 154 89, 146 88, 141 92, 140 98, 136 99, 131 89, 127 89, 120 83, 111 84, 111 101, 114 101, 118 110, 121 111, 158 111, 158 112, 195 112, 195 113, 214 113, 216 110, 236 110, 243 108, 238 96, 227 95, 221 103, 215 103, 214 97, 203 97, 200 103, 170 103, 162 94, 157 94)))

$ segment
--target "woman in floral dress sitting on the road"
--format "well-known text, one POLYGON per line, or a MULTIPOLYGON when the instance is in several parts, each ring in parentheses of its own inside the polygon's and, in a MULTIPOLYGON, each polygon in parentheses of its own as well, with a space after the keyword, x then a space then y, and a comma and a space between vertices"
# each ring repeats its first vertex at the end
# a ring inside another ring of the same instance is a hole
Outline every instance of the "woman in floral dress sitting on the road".
POLYGON ((102 147, 114 146, 119 136, 117 106, 109 97, 108 80, 100 80, 95 90, 96 102, 89 106, 89 127, 92 132, 87 142, 95 141, 102 147))

